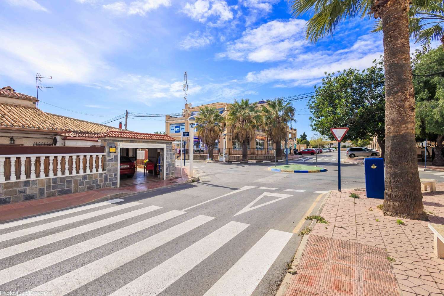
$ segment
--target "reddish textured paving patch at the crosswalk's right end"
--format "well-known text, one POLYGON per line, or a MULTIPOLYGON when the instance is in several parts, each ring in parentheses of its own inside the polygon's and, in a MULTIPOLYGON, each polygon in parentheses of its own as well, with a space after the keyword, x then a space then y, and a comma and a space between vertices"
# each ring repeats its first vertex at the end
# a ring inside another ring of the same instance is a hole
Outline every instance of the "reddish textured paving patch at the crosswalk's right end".
POLYGON ((285 296, 397 296, 385 249, 310 234, 285 296))

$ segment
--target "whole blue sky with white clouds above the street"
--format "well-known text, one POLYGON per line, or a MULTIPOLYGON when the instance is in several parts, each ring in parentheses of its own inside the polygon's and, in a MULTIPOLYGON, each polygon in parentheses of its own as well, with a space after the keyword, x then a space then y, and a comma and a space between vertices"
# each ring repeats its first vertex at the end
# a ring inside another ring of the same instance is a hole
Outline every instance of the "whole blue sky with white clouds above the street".
MULTIPOLYGON (((128 110, 178 113, 183 73, 193 106, 273 99, 313 91, 324 72, 365 68, 382 54, 373 20, 341 24, 333 38, 305 39, 309 15, 285 0, 3 0, 1 87, 35 95, 47 112, 104 122, 128 110)), ((309 136, 307 100, 293 125, 309 136)), ((164 130, 164 117, 128 128, 164 130)), ((110 125, 117 126, 118 122, 110 125)))

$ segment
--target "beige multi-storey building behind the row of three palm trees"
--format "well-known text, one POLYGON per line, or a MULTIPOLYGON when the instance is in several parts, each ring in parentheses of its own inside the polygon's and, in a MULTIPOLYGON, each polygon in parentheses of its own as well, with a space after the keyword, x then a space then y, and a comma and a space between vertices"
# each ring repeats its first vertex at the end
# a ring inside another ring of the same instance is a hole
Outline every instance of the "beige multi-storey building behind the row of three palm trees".
MULTIPOLYGON (((258 102, 258 107, 261 107, 261 105, 265 104, 266 101, 260 101, 258 102)), ((166 115, 165 118, 165 130, 166 134, 171 136, 175 139, 174 145, 175 147, 180 147, 180 141, 181 141, 181 133, 182 132, 189 132, 190 131, 190 124, 188 123, 188 117, 191 115, 196 116, 199 112, 199 109, 202 107, 214 107, 216 108, 220 114, 226 118, 228 111, 227 108, 229 108, 229 103, 210 103, 206 105, 201 105, 197 107, 192 107, 191 104, 186 104, 185 108, 182 110, 182 114, 179 116, 173 116, 173 115, 166 115)), ((288 143, 287 147, 293 149, 296 147, 296 139, 297 139, 297 130, 291 129, 288 127, 288 143)), ((242 154, 242 147, 237 143, 232 141, 231 139, 231 130, 229 126, 226 126, 226 124, 223 124, 223 132, 220 135, 218 141, 216 142, 215 149, 220 149, 220 153, 222 153, 222 141, 223 141, 223 134, 226 134, 226 153, 230 155, 240 155, 242 154)), ((190 139, 184 138, 183 140, 186 140, 185 148, 190 148, 190 139)), ((206 154, 207 147, 202 142, 200 138, 197 136, 197 128, 194 129, 194 150, 197 153, 206 154)), ((282 141, 281 148, 284 147, 285 142, 282 141)), ((262 130, 256 130, 255 132, 255 138, 251 140, 248 146, 248 154, 250 156, 253 155, 273 155, 274 150, 274 144, 271 143, 266 134, 262 130)), ((194 153, 196 153, 194 152, 194 153)), ((217 154, 217 151, 214 151, 214 154, 217 154)))

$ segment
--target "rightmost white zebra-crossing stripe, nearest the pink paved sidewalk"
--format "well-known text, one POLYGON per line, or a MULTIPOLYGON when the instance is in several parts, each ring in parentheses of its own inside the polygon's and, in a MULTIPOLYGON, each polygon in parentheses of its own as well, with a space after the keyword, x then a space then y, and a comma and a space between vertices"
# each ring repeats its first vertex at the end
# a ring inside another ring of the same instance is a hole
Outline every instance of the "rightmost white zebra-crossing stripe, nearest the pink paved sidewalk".
POLYGON ((293 233, 270 229, 204 296, 249 296, 293 233))

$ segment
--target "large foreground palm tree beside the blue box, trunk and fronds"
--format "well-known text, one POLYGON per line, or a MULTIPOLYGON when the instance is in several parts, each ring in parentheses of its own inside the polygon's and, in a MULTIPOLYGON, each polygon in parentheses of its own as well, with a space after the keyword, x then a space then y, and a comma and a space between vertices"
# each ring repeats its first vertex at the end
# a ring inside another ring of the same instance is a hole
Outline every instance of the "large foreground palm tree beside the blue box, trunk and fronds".
MULTIPOLYGON (((385 67, 385 193, 383 213, 427 219, 422 204, 415 145, 415 97, 410 65, 408 0, 292 0, 293 15, 314 11, 306 36, 332 35, 343 20, 381 18, 385 67)), ((419 0, 416 0, 419 2, 419 0)), ((420 0, 427 10, 432 0, 420 0)))

